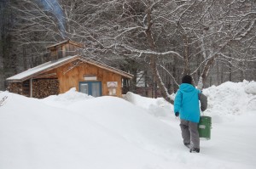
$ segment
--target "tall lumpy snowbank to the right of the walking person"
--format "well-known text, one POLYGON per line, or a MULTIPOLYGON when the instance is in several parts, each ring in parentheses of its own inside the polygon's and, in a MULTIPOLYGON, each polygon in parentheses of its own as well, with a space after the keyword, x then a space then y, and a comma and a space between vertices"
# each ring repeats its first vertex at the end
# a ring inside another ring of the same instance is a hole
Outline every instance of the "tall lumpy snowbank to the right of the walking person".
MULTIPOLYGON (((208 98, 206 115, 244 115, 256 110, 255 82, 225 82, 218 87, 212 86, 203 90, 208 98)), ((224 120, 224 118, 222 119, 224 120)), ((230 120, 230 119, 228 119, 230 120)))

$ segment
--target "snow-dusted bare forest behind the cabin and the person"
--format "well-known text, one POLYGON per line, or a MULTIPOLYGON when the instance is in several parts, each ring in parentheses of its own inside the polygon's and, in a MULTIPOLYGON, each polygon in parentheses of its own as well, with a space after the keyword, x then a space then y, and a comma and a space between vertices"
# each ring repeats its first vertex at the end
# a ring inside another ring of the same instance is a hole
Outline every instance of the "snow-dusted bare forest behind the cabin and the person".
POLYGON ((255 81, 255 37, 256 0, 0 0, 0 90, 70 39, 134 75, 129 91, 170 101, 186 74, 201 88, 255 81))

